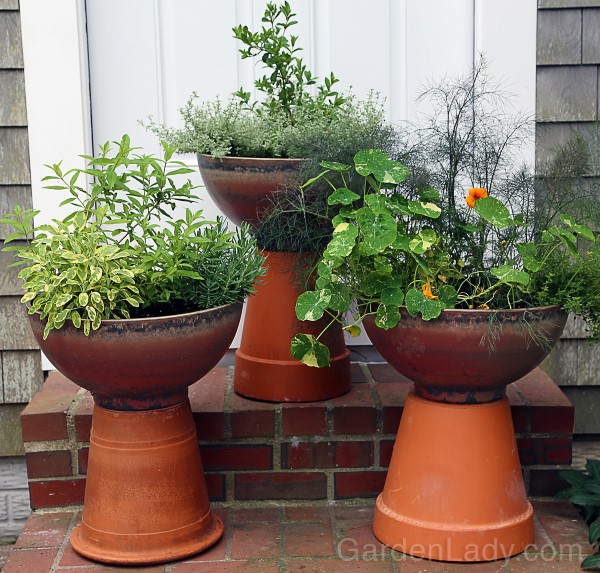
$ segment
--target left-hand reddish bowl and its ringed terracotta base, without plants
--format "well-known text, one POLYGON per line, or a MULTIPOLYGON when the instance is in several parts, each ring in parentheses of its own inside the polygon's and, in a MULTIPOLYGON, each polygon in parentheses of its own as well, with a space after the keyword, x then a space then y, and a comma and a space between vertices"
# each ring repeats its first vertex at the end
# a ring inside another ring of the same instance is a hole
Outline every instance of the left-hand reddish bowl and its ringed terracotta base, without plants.
POLYGON ((104 321, 89 337, 65 325, 42 350, 91 391, 89 461, 73 548, 126 565, 182 559, 216 543, 187 387, 229 348, 241 304, 184 315, 104 321))

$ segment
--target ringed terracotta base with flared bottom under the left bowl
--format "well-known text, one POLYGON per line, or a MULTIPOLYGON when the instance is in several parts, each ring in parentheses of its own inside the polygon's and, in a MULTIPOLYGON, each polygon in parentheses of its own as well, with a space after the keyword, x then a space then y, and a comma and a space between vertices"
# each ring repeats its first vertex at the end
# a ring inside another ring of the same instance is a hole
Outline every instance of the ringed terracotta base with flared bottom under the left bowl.
POLYGON ((207 549, 222 533, 189 400, 150 411, 96 405, 75 551, 105 563, 164 563, 207 549))

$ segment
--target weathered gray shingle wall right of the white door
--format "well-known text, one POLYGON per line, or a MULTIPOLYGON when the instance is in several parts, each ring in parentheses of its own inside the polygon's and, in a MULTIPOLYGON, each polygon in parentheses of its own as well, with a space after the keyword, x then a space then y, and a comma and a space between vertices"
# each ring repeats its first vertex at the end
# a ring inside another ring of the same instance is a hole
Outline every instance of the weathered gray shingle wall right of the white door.
MULTIPOLYGON (((573 130, 585 132, 600 109, 600 0, 538 0, 536 162, 573 130)), ((600 184, 600 173, 591 179, 600 184)), ((598 198, 600 201, 600 197, 598 198)), ((600 345, 571 320, 544 369, 575 404, 575 432, 600 434, 600 345)))

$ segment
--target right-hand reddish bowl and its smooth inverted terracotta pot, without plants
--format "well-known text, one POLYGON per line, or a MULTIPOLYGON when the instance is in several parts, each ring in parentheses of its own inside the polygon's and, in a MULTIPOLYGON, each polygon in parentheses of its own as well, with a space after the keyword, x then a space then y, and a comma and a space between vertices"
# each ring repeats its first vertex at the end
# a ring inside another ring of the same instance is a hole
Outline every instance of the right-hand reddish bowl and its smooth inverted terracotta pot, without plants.
POLYGON ((509 557, 533 543, 504 394, 548 354, 565 321, 558 307, 447 310, 429 322, 404 313, 388 331, 366 321, 375 348, 415 382, 377 498, 380 541, 461 562, 509 557))

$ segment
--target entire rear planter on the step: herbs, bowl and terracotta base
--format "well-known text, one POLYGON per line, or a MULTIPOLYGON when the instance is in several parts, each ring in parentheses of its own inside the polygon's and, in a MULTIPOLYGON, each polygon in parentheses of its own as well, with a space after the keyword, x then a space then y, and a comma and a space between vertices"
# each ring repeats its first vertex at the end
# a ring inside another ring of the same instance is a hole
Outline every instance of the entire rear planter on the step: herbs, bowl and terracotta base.
MULTIPOLYGON (((215 203, 257 234, 268 274, 247 305, 234 389, 276 402, 323 400, 350 389, 350 353, 339 327, 322 338, 330 350, 327 372, 307 368, 289 351, 300 327, 295 300, 332 231, 324 189, 300 190, 299 182, 317 175, 323 158, 344 161, 362 147, 387 148, 393 133, 376 95, 341 95, 333 74, 316 85, 292 34, 295 17, 288 2, 270 2, 259 31, 233 29, 241 57, 257 57, 265 68, 255 82, 262 99, 251 101, 242 88, 227 104, 198 105, 192 96, 181 110, 182 129, 149 125, 179 151, 197 155, 215 203)), ((316 335, 325 326, 308 328, 316 335)))

